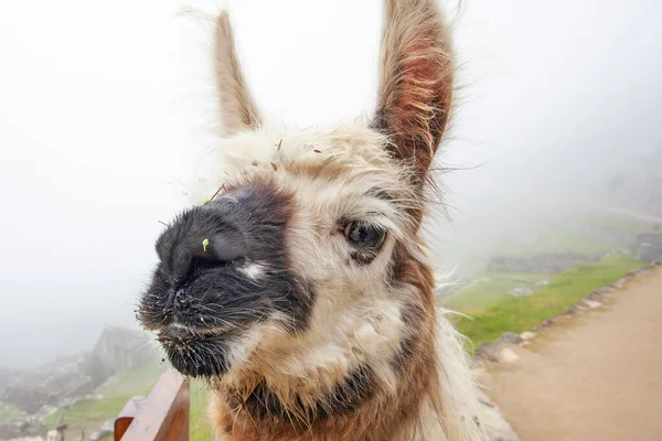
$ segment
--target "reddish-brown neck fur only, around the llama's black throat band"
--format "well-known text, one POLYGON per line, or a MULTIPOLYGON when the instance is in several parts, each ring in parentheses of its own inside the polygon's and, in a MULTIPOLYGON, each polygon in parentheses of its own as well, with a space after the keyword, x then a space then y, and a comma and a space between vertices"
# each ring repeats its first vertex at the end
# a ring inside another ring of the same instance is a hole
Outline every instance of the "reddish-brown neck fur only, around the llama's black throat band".
MULTIPOLYGON (((438 388, 438 366, 434 357, 434 278, 427 266, 407 256, 404 249, 396 254, 394 282, 415 286, 419 297, 412 299, 407 308, 406 324, 416 333, 404 342, 407 347, 403 345, 402 349, 406 356, 397 361, 402 365, 395 396, 376 390, 349 413, 322 418, 309 416, 297 420, 287 416, 255 415, 242 405, 258 383, 258 377, 248 375, 239 388, 216 385, 220 394, 214 397, 210 411, 217 438, 225 437, 227 441, 381 441, 403 439, 412 433, 412 427, 419 423, 417 417, 424 398, 437 401, 437 397, 430 397, 438 388)), ((297 410, 292 409, 293 412, 297 410)))

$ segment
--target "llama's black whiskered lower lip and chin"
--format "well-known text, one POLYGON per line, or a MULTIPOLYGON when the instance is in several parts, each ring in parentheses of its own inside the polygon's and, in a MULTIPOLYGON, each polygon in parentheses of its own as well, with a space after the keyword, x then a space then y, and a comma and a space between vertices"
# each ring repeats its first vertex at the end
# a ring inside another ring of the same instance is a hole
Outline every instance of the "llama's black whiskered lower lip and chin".
POLYGON ((157 333, 172 366, 191 377, 221 376, 229 369, 228 347, 234 333, 169 325, 157 333))

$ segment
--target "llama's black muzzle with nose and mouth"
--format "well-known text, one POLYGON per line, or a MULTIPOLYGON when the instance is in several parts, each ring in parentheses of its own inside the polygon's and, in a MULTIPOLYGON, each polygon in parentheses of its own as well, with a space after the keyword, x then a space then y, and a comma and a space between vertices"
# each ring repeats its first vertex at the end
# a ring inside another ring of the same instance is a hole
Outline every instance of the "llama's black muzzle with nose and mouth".
POLYGON ((234 344, 256 325, 305 327, 301 299, 310 295, 288 268, 289 211, 286 195, 253 183, 182 213, 163 232, 138 320, 158 332, 175 368, 222 375, 234 344))

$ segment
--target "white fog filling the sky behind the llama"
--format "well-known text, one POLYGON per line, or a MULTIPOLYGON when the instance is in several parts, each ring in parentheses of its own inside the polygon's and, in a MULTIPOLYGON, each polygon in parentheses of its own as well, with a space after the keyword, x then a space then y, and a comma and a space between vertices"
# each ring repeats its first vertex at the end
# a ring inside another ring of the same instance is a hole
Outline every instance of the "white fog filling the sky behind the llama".
MULTIPOLYGON (((381 1, 228 3, 267 115, 309 126, 371 114, 381 1)), ((158 220, 180 207, 186 148, 213 117, 207 36, 175 18, 182 4, 0 2, 0 366, 135 326, 158 220)), ((428 223, 436 263, 470 273, 568 198, 655 215, 662 4, 451 9, 460 87, 439 164, 456 171, 441 176, 447 214, 428 223)))

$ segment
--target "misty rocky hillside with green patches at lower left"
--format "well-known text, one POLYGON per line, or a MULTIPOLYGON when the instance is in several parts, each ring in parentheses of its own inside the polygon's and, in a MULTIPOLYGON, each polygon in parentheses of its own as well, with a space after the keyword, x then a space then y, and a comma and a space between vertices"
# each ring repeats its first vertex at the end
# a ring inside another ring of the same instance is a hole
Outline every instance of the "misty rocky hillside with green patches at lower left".
POLYGON ((148 344, 147 333, 107 327, 90 352, 34 369, 4 372, 0 377, 0 439, 44 435, 47 428, 68 419, 70 431, 75 433, 102 431, 104 422, 115 416, 121 394, 151 387, 154 372, 145 351, 148 344))

